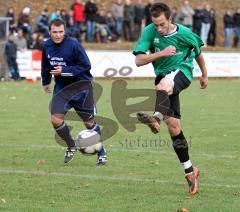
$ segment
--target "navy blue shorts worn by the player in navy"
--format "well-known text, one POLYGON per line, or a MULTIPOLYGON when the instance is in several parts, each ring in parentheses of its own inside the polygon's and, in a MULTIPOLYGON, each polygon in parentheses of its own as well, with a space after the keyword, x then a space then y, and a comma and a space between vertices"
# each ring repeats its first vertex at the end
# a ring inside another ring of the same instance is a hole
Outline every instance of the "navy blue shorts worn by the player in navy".
POLYGON ((55 85, 50 111, 51 114, 66 114, 71 108, 84 120, 88 121, 96 114, 93 88, 90 81, 78 81, 63 89, 55 85))

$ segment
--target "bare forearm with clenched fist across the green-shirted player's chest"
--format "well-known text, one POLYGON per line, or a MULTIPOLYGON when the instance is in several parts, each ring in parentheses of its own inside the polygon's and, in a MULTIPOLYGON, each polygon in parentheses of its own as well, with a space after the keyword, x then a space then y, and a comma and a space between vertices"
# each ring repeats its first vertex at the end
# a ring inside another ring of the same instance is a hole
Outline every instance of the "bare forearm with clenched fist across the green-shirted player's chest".
POLYGON ((135 58, 135 63, 137 66, 143 66, 159 58, 173 56, 175 54, 176 48, 174 46, 168 46, 164 50, 152 54, 138 54, 135 58))

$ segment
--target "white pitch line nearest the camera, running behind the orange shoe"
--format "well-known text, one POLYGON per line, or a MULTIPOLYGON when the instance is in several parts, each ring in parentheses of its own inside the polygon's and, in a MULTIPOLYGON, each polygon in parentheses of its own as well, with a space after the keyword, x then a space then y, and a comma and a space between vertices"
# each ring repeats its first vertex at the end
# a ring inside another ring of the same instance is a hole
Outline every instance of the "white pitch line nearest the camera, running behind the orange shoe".
MULTIPOLYGON (((52 176, 52 177, 76 177, 76 178, 86 178, 91 180, 109 180, 109 181, 133 181, 142 183, 158 183, 158 184, 175 184, 175 185, 185 185, 184 182, 173 182, 168 180, 160 179, 148 179, 148 178, 136 178, 136 177, 115 177, 115 176, 94 176, 94 175, 82 175, 82 174, 72 174, 64 172, 45 172, 45 171, 34 171, 34 170, 16 170, 16 169, 4 169, 0 168, 0 173, 2 174, 32 174, 35 176, 52 176)), ((211 184, 211 183, 201 183, 204 187, 219 187, 219 188, 240 188, 240 184, 211 184)))

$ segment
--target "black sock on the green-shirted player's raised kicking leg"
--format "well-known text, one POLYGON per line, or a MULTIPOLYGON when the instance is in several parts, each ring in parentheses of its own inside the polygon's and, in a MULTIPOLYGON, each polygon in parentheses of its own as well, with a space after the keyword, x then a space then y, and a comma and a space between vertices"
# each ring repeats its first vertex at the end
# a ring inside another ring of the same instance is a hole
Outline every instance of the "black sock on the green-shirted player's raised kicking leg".
POLYGON ((170 100, 167 91, 157 91, 155 111, 160 112, 163 116, 173 116, 173 111, 169 107, 170 100))

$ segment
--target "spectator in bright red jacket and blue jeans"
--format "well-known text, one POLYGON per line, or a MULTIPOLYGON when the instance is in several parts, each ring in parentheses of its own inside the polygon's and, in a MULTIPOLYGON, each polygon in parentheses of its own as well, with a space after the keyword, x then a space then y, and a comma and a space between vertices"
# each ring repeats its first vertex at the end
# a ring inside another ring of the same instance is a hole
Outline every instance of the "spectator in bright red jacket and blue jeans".
POLYGON ((71 6, 73 12, 73 35, 74 37, 81 40, 81 27, 84 24, 84 5, 81 0, 75 0, 74 4, 71 6))

